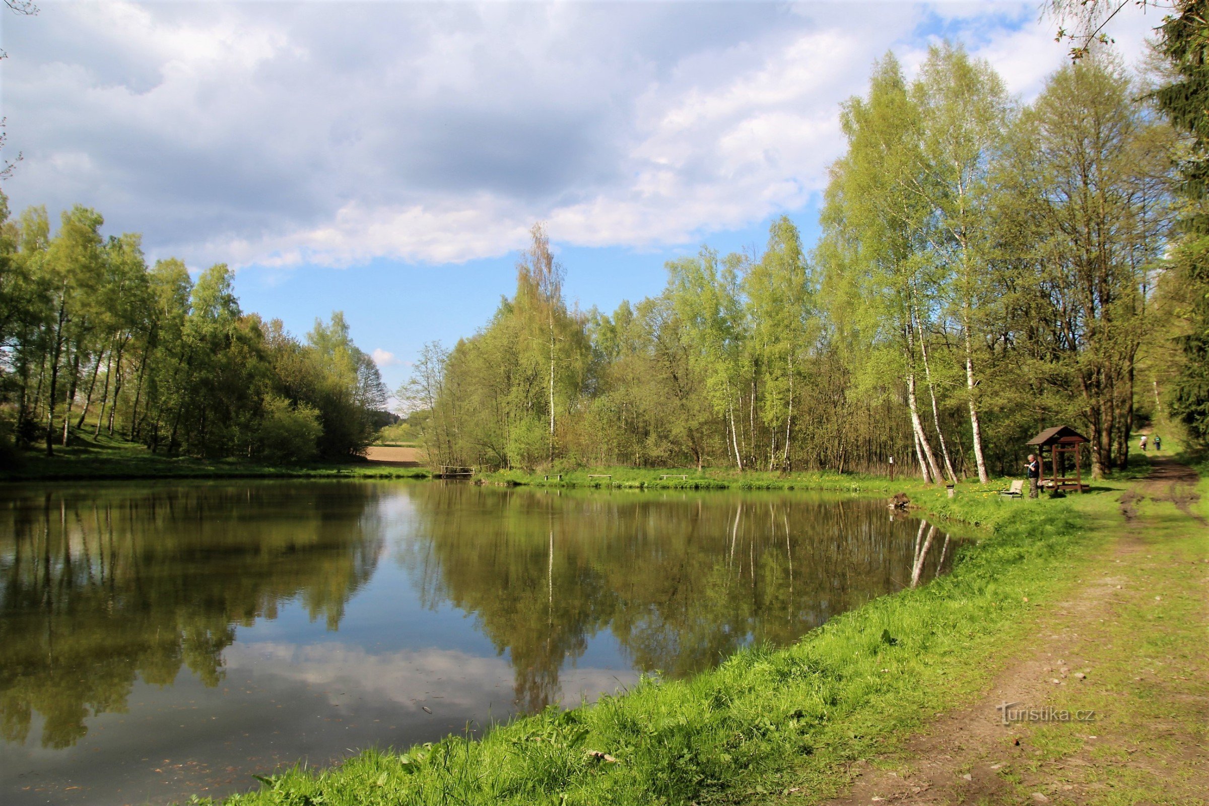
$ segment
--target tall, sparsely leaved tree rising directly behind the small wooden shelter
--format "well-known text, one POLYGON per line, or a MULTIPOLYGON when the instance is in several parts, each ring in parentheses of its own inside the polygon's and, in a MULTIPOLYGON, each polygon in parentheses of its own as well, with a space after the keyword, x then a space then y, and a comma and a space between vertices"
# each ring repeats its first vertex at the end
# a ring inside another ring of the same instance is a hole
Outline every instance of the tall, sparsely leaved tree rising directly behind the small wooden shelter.
POLYGON ((1032 244, 1012 261, 1030 326, 1024 356, 1039 394, 1075 404, 1093 471, 1128 459, 1133 373, 1152 326, 1145 291, 1168 243, 1169 131, 1135 94, 1111 63, 1055 74, 1016 133, 1002 208, 1032 244))

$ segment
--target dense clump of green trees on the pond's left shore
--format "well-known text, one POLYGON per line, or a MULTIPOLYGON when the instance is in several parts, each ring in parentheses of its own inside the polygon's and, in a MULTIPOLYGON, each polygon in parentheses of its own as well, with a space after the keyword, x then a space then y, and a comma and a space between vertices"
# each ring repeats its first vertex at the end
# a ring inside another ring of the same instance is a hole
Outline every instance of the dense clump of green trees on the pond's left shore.
POLYGON ((224 265, 147 267, 100 215, 7 220, 0 197, 0 412, 47 454, 91 436, 152 452, 300 462, 360 453, 386 392, 339 312, 301 344, 239 308, 224 265), (317 427, 316 423, 319 425, 317 427), (318 428, 318 430, 316 430, 318 428))

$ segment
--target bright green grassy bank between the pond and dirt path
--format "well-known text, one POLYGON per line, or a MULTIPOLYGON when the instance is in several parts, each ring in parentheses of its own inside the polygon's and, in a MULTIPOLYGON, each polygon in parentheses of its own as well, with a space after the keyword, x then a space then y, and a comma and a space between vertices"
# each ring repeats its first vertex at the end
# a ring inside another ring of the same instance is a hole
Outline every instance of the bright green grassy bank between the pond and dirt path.
MULTIPOLYGON (((742 651, 690 680, 646 679, 481 741, 293 770, 227 802, 704 804, 835 791, 846 761, 892 748, 979 691, 1032 611, 1066 592, 1106 540, 1082 527, 1069 498, 915 498, 983 524, 984 537, 959 550, 950 575, 833 619, 794 646, 742 651)), ((1080 508, 1111 508, 1116 497, 1086 498, 1080 508)))

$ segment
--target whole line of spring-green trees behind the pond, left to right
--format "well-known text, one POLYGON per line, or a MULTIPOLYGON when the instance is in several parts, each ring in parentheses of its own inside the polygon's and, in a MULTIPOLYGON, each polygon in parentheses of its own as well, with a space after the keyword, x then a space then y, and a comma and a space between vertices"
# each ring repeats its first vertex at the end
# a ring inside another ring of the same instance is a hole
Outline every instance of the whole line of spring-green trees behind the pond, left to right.
MULTIPOLYGON (((1054 424, 1086 433, 1095 477, 1146 425, 1203 445, 1209 227, 1186 83, 1097 56, 1022 104, 960 47, 912 80, 887 54, 843 105, 812 248, 782 216, 763 250, 705 247, 667 263, 660 295, 585 312, 536 225, 515 295, 428 344, 395 393, 411 439, 433 466, 481 471, 893 463, 931 482, 1016 475, 1054 424)), ((300 340, 242 311, 226 266, 149 266, 138 234, 106 238, 82 207, 53 233, 44 208, 0 214, 10 458, 105 436, 340 462, 391 418, 339 312, 300 340)))

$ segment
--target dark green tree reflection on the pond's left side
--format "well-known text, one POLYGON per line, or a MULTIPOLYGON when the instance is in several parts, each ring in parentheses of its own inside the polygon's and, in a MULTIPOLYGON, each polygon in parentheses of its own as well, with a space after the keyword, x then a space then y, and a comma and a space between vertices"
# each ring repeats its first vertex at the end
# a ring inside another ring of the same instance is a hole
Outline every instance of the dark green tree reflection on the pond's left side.
POLYGON ((339 625, 374 573, 372 485, 112 485, 0 499, 0 730, 65 748, 125 712, 135 678, 224 675, 236 626, 297 601, 339 625))

